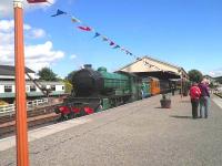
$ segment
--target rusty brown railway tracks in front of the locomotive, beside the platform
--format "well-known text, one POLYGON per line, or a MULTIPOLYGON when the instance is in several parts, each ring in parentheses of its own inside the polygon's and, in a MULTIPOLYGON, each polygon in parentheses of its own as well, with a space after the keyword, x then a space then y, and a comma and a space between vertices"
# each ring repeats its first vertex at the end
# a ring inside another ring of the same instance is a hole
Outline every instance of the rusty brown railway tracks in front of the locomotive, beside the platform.
MULTIPOLYGON (((56 122, 59 118, 59 114, 54 113, 56 106, 59 104, 47 105, 41 107, 34 107, 28 111, 28 126, 29 129, 47 125, 56 122)), ((16 131, 16 114, 8 114, 0 116, 0 138, 12 135, 16 131)))

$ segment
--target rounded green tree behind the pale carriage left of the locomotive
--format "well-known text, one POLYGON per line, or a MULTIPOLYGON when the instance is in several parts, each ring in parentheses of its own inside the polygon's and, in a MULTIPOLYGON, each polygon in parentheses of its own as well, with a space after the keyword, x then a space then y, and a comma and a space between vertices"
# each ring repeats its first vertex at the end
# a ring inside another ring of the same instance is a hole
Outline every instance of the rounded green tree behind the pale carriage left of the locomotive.
POLYGON ((49 68, 42 68, 39 71, 38 75, 40 76, 40 80, 44 80, 44 81, 57 81, 58 80, 57 74, 54 74, 52 72, 52 70, 49 68))

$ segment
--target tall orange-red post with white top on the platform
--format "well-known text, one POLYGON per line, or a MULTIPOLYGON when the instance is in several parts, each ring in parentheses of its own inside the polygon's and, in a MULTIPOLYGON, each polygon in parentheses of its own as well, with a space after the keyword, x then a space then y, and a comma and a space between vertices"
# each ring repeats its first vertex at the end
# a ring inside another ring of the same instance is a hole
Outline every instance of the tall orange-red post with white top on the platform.
POLYGON ((14 8, 14 59, 16 59, 16 110, 17 110, 17 165, 29 166, 27 133, 27 100, 23 45, 23 0, 13 0, 14 8))

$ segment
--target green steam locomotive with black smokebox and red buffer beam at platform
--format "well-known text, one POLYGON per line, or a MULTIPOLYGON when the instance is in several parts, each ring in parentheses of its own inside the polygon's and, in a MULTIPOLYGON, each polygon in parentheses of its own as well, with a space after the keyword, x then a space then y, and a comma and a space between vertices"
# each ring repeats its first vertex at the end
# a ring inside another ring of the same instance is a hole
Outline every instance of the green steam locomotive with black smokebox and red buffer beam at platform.
MULTIPOLYGON (((72 94, 56 108, 60 121, 104 111, 125 103, 161 93, 160 80, 139 77, 125 72, 107 72, 105 68, 94 71, 84 65, 72 77, 72 94)), ((164 83, 164 91, 169 83, 164 83)))

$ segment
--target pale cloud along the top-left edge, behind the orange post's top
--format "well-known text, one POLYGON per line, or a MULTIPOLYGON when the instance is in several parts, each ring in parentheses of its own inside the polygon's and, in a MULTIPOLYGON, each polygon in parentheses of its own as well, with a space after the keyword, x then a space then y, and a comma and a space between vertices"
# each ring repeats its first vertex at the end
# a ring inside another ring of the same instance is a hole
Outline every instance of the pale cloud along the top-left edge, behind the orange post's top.
MULTIPOLYGON (((56 2, 56 0, 48 0, 51 4, 56 2)), ((36 10, 36 9, 46 9, 50 7, 50 3, 36 3, 36 4, 30 4, 27 2, 27 0, 23 0, 23 8, 24 11, 29 10, 36 10)), ((1 6, 0 6, 0 17, 12 17, 13 13, 13 0, 1 0, 1 6)))

